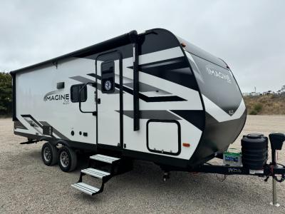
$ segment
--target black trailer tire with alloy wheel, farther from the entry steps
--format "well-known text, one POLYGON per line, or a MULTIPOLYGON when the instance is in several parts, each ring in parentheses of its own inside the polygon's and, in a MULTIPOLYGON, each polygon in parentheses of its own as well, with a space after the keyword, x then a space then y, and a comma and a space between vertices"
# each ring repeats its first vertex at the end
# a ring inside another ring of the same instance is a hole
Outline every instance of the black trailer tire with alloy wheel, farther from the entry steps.
POLYGON ((58 163, 58 148, 49 142, 44 143, 41 148, 41 159, 45 165, 55 165, 58 163))

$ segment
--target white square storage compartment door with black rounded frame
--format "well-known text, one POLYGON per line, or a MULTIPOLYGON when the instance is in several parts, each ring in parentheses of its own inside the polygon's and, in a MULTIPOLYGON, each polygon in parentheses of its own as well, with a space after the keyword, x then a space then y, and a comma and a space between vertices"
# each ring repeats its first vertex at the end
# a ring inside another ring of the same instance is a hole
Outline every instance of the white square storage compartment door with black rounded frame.
POLYGON ((180 123, 147 121, 147 149, 153 153, 178 156, 181 151, 180 123))

